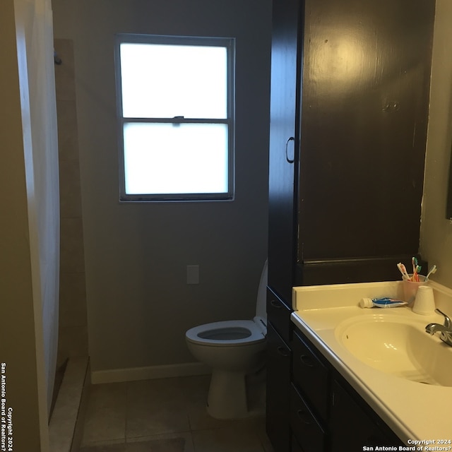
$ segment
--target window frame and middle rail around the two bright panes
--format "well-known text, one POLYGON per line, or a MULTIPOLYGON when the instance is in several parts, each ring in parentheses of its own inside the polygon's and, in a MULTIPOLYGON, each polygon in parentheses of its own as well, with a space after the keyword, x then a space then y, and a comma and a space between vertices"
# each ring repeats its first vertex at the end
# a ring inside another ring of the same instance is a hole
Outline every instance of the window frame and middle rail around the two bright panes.
POLYGON ((117 94, 119 141, 119 201, 233 201, 235 191, 235 39, 231 37, 190 37, 169 35, 137 35, 118 33, 114 42, 114 70, 117 94), (227 50, 227 117, 212 118, 125 118, 122 109, 121 56, 122 43, 174 44, 187 46, 225 47, 227 50), (178 194, 127 194, 124 159, 124 125, 128 123, 226 124, 227 125, 227 192, 178 194))

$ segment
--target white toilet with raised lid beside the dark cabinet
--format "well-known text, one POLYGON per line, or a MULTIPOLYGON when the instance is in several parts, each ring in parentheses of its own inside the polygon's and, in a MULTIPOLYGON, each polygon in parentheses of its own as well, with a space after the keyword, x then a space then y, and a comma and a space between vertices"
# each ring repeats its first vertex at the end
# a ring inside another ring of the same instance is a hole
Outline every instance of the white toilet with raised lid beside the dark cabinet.
POLYGON ((212 368, 207 411, 216 419, 250 415, 246 375, 263 369, 265 364, 267 268, 266 261, 254 319, 206 323, 185 333, 191 354, 212 368))

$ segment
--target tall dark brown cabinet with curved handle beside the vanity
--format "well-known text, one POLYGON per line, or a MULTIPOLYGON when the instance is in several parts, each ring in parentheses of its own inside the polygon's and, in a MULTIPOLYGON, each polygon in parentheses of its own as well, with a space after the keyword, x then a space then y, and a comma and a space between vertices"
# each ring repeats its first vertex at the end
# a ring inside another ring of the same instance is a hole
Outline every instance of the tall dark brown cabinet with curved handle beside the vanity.
POLYGON ((433 23, 434 0, 273 1, 267 429, 276 452, 291 442, 274 426, 289 411, 292 287, 396 280, 396 263, 417 255, 433 23))

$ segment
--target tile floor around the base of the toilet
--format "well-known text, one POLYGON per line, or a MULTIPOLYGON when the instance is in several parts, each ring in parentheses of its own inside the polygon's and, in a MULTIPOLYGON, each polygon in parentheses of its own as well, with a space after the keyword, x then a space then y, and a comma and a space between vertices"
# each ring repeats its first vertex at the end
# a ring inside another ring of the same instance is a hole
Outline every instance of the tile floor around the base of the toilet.
POLYGON ((80 452, 273 452, 265 419, 206 412, 210 376, 93 385, 80 452))

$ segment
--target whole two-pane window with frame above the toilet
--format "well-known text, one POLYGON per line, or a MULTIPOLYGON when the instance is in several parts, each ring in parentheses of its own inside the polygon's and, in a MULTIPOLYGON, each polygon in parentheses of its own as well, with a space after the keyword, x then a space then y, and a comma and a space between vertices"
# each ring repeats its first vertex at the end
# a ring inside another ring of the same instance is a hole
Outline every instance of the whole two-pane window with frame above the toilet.
POLYGON ((122 201, 232 199, 234 40, 117 35, 122 201))

